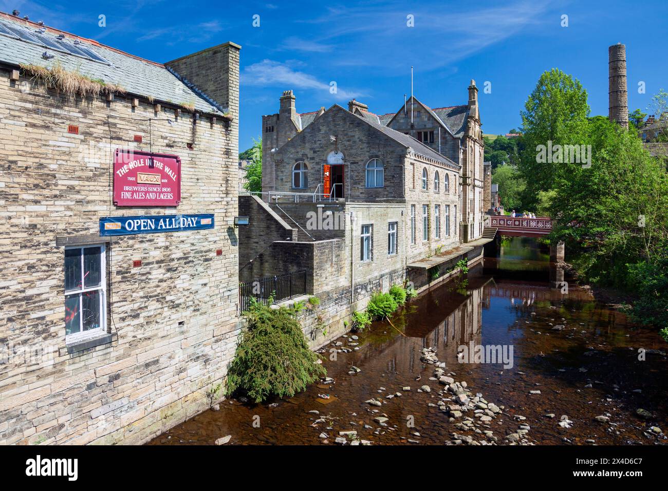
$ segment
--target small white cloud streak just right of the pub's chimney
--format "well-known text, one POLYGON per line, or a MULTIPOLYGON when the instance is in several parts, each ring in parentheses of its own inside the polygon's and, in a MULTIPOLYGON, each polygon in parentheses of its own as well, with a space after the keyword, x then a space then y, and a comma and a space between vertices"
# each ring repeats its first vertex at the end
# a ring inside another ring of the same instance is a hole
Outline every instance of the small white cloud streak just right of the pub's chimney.
POLYGON ((361 92, 344 90, 337 82, 337 92, 330 93, 330 82, 317 79, 315 76, 294 69, 288 63, 281 63, 271 59, 263 59, 259 63, 247 66, 241 73, 241 83, 246 86, 277 87, 284 89, 309 89, 321 92, 323 96, 329 94, 336 100, 348 100, 364 96, 361 92))

